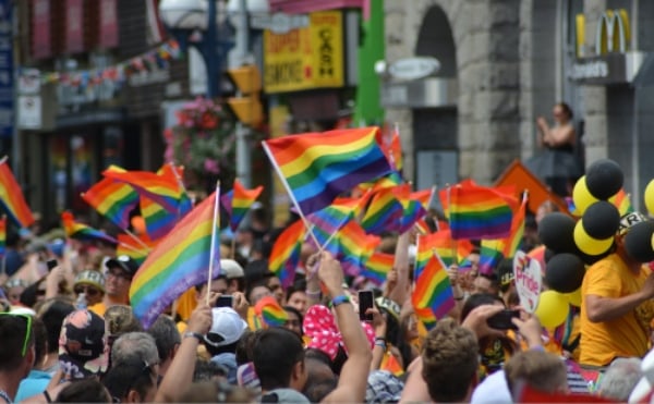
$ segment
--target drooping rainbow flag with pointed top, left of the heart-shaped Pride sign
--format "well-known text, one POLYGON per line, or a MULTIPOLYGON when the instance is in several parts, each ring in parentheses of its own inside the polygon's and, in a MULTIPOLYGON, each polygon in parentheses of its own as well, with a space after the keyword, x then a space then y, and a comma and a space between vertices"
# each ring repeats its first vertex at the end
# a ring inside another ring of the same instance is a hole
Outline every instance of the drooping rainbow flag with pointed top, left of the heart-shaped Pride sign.
POLYGON ((445 265, 438 257, 432 257, 417 277, 411 302, 416 309, 429 308, 437 319, 455 308, 452 286, 445 265))

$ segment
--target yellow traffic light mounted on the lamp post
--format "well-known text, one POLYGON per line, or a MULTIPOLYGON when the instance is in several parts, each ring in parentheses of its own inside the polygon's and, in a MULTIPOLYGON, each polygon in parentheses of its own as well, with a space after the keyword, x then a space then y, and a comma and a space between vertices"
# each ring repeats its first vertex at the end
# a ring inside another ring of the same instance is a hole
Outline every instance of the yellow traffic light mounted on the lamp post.
POLYGON ((243 124, 258 125, 264 119, 264 110, 259 100, 262 76, 258 69, 249 64, 231 69, 228 73, 238 88, 238 94, 237 97, 229 98, 227 103, 243 124))

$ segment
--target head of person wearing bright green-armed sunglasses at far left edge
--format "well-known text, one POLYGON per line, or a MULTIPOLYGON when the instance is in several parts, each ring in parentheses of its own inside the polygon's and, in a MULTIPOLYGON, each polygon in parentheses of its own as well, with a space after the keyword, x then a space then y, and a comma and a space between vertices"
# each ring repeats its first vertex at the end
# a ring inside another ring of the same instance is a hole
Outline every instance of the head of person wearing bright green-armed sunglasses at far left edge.
POLYGON ((27 315, 0 314, 0 375, 27 376, 35 360, 33 318, 27 315))

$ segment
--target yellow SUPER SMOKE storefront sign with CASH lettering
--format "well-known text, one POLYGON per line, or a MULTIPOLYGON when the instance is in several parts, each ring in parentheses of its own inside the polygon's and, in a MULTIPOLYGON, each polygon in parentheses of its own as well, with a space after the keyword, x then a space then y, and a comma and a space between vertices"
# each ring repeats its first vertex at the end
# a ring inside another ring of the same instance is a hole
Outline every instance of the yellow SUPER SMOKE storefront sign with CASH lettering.
POLYGON ((264 90, 268 94, 342 87, 343 19, 340 11, 310 14, 287 34, 264 32, 264 90))

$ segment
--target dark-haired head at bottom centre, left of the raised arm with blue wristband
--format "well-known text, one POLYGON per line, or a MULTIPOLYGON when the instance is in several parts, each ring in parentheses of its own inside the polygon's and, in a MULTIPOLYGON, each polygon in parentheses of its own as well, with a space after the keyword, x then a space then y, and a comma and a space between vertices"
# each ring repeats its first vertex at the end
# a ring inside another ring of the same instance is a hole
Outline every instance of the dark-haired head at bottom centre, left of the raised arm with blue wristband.
POLYGON ((262 390, 290 388, 302 391, 306 383, 302 340, 292 331, 272 327, 256 332, 252 350, 262 390))

